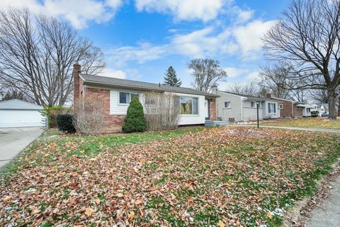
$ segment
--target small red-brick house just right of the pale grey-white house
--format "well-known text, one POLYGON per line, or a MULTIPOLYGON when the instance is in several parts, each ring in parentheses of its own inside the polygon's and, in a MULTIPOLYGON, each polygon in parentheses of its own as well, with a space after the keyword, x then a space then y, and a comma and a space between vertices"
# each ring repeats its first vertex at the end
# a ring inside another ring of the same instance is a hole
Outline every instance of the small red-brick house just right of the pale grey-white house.
POLYGON ((303 116, 303 106, 305 103, 289 99, 280 99, 267 94, 267 98, 273 101, 280 101, 280 116, 282 118, 299 118, 303 116))

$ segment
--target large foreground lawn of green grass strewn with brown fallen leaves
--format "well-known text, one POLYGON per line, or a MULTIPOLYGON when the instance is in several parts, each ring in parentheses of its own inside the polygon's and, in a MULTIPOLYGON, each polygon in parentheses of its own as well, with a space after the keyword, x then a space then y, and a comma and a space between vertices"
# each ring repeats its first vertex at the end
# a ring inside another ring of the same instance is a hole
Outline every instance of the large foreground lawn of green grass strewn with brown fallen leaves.
POLYGON ((201 128, 40 140, 1 177, 0 223, 278 226, 340 156, 339 139, 201 128))

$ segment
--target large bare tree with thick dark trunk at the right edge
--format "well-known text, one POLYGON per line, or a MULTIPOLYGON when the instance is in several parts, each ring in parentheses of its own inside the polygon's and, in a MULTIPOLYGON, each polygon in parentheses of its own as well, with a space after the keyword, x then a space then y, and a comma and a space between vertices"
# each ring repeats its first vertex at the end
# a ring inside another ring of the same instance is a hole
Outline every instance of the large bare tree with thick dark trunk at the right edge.
POLYGON ((292 0, 263 38, 266 57, 292 65, 290 79, 303 82, 295 89, 327 89, 331 119, 340 84, 339 33, 340 0, 292 0))

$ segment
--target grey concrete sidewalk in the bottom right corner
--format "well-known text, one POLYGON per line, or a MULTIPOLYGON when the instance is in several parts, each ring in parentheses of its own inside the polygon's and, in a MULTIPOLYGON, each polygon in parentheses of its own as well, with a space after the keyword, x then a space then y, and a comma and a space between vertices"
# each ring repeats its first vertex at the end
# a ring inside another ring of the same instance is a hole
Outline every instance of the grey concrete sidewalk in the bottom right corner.
POLYGON ((329 197, 321 206, 311 212, 311 218, 306 226, 340 226, 340 177, 331 183, 331 187, 333 188, 329 192, 329 197))

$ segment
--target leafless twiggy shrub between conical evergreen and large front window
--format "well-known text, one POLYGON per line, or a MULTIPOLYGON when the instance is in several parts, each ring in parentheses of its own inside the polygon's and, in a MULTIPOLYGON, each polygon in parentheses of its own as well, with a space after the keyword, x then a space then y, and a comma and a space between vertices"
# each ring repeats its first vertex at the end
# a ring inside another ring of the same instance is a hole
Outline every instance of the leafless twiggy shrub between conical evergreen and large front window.
POLYGON ((166 92, 145 92, 145 119, 148 130, 177 128, 179 113, 179 96, 166 92))

